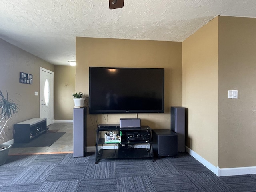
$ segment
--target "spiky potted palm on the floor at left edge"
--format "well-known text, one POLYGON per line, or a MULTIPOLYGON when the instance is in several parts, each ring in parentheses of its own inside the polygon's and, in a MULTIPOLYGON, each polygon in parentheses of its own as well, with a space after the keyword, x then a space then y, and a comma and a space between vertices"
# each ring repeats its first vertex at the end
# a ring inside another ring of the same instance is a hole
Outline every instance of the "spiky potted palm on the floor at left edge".
POLYGON ((8 98, 8 92, 6 91, 6 97, 0 90, 0 165, 4 164, 9 153, 11 144, 2 144, 7 136, 6 131, 13 131, 13 128, 8 127, 8 121, 14 114, 18 113, 18 105, 13 100, 8 98))

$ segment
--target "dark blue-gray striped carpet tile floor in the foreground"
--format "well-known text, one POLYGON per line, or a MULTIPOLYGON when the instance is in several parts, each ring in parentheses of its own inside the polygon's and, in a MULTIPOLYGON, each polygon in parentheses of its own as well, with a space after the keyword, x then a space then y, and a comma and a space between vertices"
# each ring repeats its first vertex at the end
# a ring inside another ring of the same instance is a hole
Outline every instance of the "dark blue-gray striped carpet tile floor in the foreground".
POLYGON ((0 176, 0 192, 256 192, 255 174, 217 177, 187 153, 98 164, 94 153, 15 155, 0 176))

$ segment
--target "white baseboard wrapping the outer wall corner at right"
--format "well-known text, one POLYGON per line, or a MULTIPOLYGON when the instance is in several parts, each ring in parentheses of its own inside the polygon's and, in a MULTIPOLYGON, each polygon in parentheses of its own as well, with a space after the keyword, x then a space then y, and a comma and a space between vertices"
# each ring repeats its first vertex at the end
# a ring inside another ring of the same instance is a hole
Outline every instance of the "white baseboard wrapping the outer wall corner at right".
POLYGON ((221 176, 232 176, 232 175, 247 175, 256 174, 256 166, 253 167, 235 167, 235 168, 219 168, 202 158, 196 152, 185 146, 186 152, 188 152, 192 157, 202 163, 206 168, 216 174, 218 177, 221 176))

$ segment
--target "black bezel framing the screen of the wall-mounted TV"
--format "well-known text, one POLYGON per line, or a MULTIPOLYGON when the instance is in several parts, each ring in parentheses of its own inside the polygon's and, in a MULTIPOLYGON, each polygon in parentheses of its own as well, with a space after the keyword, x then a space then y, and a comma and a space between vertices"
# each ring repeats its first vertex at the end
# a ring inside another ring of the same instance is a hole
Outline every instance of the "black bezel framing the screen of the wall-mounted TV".
POLYGON ((164 68, 126 68, 126 67, 89 67, 89 113, 90 114, 123 114, 123 113, 164 113, 164 75, 162 80, 162 109, 157 110, 92 110, 91 108, 91 69, 92 68, 103 68, 103 69, 145 69, 145 70, 163 70, 164 68))

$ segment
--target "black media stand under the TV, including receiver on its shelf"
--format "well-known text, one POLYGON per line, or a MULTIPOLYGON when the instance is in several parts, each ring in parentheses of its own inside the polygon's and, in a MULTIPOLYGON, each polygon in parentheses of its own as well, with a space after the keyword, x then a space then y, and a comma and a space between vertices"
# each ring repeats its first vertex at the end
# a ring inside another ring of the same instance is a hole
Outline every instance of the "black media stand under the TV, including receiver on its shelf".
POLYGON ((149 126, 120 128, 117 124, 98 126, 96 135, 95 164, 107 158, 152 158, 152 130, 149 126), (105 142, 105 133, 116 132, 121 139, 105 142), (146 145, 145 147, 142 145, 146 145))

